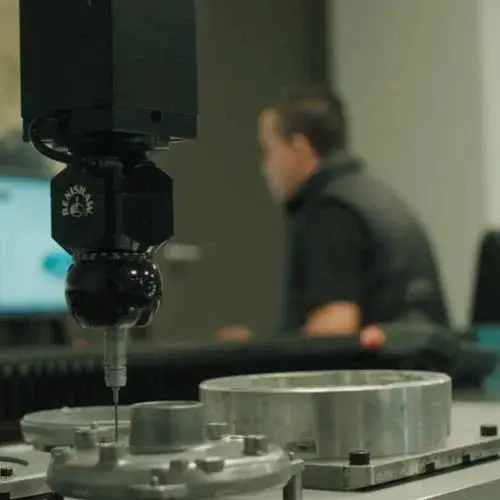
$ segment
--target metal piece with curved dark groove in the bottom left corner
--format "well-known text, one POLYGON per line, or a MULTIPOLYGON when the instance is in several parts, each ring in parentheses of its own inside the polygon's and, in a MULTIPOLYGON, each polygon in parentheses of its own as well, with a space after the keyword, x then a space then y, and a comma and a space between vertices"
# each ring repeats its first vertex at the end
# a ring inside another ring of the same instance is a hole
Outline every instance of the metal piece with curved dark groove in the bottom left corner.
POLYGON ((50 456, 26 445, 0 447, 0 495, 9 500, 48 496, 50 456))

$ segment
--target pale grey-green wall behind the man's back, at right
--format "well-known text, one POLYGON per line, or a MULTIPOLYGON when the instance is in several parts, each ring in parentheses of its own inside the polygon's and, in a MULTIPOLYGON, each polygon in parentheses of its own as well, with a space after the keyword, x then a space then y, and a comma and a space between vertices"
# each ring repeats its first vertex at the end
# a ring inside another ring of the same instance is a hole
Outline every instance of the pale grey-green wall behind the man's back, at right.
MULTIPOLYGON (((496 106, 500 72, 486 96, 482 8, 470 0, 332 0, 328 14, 332 81, 348 104, 353 149, 426 223, 458 323, 468 318, 475 247, 488 220, 487 168, 498 170, 495 159, 485 163, 483 99, 496 106)), ((500 16, 491 23, 500 42, 500 16)), ((498 45, 489 57, 498 59, 498 45)), ((500 159, 497 151, 490 156, 500 159)))

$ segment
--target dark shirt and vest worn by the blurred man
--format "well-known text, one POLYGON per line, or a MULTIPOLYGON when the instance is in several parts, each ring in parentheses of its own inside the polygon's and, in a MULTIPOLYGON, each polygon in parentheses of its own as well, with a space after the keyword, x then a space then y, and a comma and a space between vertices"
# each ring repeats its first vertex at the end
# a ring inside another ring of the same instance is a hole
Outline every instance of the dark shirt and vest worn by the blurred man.
POLYGON ((328 159, 286 205, 279 331, 298 332, 331 302, 359 305, 363 324, 409 314, 447 322, 427 236, 395 193, 346 155, 328 159))

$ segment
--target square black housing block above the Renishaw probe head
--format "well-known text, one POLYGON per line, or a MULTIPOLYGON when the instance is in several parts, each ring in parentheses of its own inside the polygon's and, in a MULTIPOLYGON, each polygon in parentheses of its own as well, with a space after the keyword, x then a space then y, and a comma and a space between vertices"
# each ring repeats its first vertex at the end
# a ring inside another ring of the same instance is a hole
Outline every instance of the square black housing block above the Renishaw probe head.
POLYGON ((193 0, 20 0, 25 137, 196 138, 193 0), (57 125, 59 124, 59 127, 57 125))

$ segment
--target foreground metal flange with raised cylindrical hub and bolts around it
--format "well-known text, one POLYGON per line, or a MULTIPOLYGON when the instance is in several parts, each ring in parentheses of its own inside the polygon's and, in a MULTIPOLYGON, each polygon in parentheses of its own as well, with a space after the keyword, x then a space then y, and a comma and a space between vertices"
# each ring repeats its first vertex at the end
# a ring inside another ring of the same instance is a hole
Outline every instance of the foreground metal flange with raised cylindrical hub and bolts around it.
POLYGON ((52 451, 47 483, 81 500, 219 498, 283 488, 300 500, 303 462, 263 436, 203 424, 198 402, 133 405, 130 443, 88 441, 52 451))

